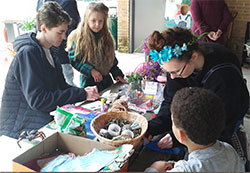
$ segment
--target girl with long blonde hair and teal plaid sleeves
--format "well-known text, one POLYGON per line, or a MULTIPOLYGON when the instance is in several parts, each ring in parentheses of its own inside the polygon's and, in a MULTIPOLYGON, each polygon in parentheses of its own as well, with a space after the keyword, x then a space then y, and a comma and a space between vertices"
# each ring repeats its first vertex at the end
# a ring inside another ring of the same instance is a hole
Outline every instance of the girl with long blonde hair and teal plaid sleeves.
POLYGON ((110 73, 116 81, 125 82, 108 30, 108 11, 103 3, 90 3, 67 41, 71 64, 81 73, 80 86, 96 85, 99 92, 113 84, 110 73))

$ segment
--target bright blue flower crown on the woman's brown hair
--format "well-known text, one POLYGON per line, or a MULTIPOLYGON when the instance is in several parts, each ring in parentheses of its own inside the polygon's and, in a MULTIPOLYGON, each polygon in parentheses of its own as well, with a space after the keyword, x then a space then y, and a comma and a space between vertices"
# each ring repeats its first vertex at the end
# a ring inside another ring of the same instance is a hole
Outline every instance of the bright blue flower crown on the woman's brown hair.
POLYGON ((163 62, 169 62, 169 60, 173 57, 178 59, 179 56, 182 55, 182 52, 187 50, 187 44, 183 43, 182 47, 177 44, 174 48, 171 46, 164 46, 160 52, 157 50, 150 50, 149 55, 154 62, 158 61, 160 65, 163 65, 163 62))

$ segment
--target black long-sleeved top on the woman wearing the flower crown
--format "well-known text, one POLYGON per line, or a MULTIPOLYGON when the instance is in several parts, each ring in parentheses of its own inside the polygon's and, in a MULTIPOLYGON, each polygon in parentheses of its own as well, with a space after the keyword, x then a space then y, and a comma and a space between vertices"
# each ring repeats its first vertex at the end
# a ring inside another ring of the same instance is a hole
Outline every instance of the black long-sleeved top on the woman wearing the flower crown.
MULTIPOLYGON (((214 66, 221 63, 232 63, 240 72, 241 66, 237 57, 221 45, 214 43, 202 43, 205 49, 205 63, 203 69, 194 72, 188 78, 171 79, 167 74, 167 82, 164 88, 164 101, 158 115, 149 121, 148 134, 158 135, 171 131, 170 104, 177 90, 183 87, 201 87, 209 89, 222 98, 226 110, 226 127, 220 139, 229 141, 236 126, 236 123, 243 119, 249 106, 249 93, 242 76, 233 68, 222 68, 215 71, 207 81, 201 81, 205 74, 214 66)), ((202 122, 201 122, 202 123, 202 122)))

